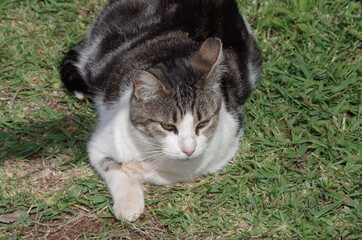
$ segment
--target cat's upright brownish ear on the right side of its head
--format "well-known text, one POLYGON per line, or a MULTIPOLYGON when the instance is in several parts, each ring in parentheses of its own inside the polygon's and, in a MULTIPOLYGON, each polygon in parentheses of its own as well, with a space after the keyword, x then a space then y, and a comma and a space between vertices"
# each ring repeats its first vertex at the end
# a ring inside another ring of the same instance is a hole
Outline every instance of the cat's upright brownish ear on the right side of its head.
POLYGON ((211 73, 222 59, 221 40, 218 38, 208 38, 190 60, 195 66, 211 73))

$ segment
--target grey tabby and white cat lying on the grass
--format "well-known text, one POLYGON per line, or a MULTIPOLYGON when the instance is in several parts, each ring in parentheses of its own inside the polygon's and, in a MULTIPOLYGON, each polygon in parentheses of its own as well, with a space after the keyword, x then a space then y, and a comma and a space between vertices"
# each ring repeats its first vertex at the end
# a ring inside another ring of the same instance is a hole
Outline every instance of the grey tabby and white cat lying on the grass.
POLYGON ((261 52, 234 0, 113 0, 61 64, 91 99, 88 142, 117 219, 144 212, 142 183, 191 181, 239 149, 261 52))

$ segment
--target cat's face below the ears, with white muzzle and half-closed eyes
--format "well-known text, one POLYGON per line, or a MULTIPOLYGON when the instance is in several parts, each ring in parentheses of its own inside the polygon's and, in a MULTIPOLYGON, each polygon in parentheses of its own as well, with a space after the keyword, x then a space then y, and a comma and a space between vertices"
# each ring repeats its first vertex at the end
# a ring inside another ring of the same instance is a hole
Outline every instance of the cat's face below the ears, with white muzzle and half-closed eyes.
POLYGON ((131 119, 147 138, 145 149, 172 159, 202 155, 217 127, 221 95, 200 91, 194 98, 188 97, 158 94, 147 102, 134 101, 131 119))

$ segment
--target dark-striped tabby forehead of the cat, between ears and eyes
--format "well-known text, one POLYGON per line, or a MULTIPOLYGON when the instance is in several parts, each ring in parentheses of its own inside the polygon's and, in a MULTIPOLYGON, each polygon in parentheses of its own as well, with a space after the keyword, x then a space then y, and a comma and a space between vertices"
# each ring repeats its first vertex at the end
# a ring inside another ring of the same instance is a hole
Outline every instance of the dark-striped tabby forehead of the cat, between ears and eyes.
POLYGON ((158 64, 148 71, 162 85, 154 93, 156 97, 141 106, 142 111, 150 117, 157 121, 177 123, 190 113, 196 121, 201 121, 218 111, 221 92, 201 84, 207 75, 187 60, 158 64))

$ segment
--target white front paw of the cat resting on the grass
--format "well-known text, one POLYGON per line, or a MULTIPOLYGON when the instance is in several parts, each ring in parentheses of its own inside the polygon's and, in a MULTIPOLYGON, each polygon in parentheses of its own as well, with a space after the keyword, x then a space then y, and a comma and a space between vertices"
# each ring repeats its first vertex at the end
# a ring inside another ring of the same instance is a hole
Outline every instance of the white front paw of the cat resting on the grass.
POLYGON ((120 199, 114 199, 113 213, 117 219, 134 222, 145 210, 143 191, 139 184, 135 184, 120 199), (138 186, 137 186, 138 185, 138 186))

